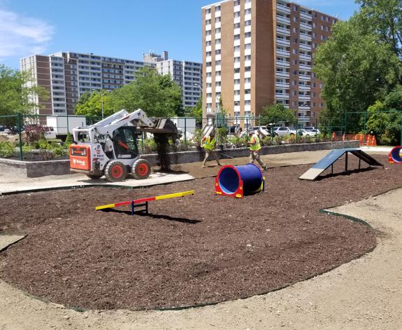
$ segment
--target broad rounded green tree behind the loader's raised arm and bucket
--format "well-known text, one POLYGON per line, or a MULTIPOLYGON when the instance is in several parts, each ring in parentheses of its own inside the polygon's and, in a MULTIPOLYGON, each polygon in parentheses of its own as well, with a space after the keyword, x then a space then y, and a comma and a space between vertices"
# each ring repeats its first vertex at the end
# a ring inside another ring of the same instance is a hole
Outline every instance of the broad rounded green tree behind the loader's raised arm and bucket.
POLYGON ((147 67, 136 72, 134 82, 114 90, 111 98, 115 109, 143 109, 151 117, 183 114, 182 91, 177 83, 170 75, 162 76, 147 67))

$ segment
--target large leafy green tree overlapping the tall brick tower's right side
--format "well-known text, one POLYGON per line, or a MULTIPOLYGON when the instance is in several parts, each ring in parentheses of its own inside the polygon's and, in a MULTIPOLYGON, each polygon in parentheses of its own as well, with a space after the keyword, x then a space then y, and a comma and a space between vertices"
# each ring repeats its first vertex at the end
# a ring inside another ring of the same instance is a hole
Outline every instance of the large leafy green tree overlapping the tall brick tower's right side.
MULTIPOLYGON (((340 126, 345 112, 366 111, 398 81, 399 58, 392 47, 378 35, 363 31, 357 17, 338 22, 329 41, 315 54, 313 70, 324 81, 326 110, 320 118, 324 125, 340 126)), ((348 118, 347 124, 358 123, 348 118)))

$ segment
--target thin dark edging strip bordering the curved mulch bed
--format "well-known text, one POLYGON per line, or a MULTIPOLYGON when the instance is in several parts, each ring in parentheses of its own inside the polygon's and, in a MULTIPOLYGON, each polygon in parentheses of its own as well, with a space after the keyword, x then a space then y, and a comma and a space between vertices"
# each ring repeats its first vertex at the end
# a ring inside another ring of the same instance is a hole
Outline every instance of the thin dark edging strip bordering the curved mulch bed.
MULTIPOLYGON (((192 180, 195 180, 195 179, 196 179, 196 178, 194 178, 194 179, 189 179, 189 180, 186 180, 186 181, 192 181, 192 180)), ((180 181, 179 181, 179 182, 180 182, 180 181)), ((172 184, 172 183, 175 183, 175 182, 169 182, 169 183, 166 183, 166 184, 172 184)), ((164 184, 164 185, 166 185, 166 184, 164 184)), ((155 185, 152 185, 152 186, 157 186, 157 185, 159 186, 160 184, 155 184, 155 185)), ((128 187, 128 186, 117 186, 117 185, 108 185, 108 184, 93 184, 93 185, 85 185, 85 186, 72 186, 72 187, 70 187, 70 188, 71 188, 71 189, 74 189, 74 188, 86 188, 86 187, 90 187, 90 186, 103 186, 103 187, 110 187, 110 188, 131 188, 131 189, 149 187, 149 186, 142 186, 142 187, 141 187, 141 186, 138 186, 138 187, 130 187, 130 186, 129 186, 129 187, 128 187)), ((392 189, 389 189, 389 191, 385 191, 385 192, 382 192, 382 193, 378 193, 378 195, 372 195, 370 198, 377 197, 377 196, 379 196, 379 195, 384 195, 385 193, 389 193, 389 192, 391 192, 391 191, 396 191, 397 189, 400 189, 400 188, 401 188, 401 187, 399 187, 399 188, 392 188, 392 189)), ((61 189, 69 189, 69 188, 66 188, 66 187, 47 188, 47 189, 41 188, 41 189, 33 190, 32 192, 35 192, 35 191, 47 191, 47 190, 61 190, 61 189)), ((11 192, 11 193, 7 193, 7 194, 8 194, 8 195, 12 195, 12 194, 15 194, 15 193, 27 193, 27 192, 29 192, 29 191, 17 191, 17 192, 11 192)), ((1 195, 1 194, 0 194, 0 195, 1 195)), ((368 199, 368 198, 366 198, 366 199, 368 199)), ((340 206, 343 206, 343 205, 338 205, 338 206, 334 206, 334 207, 340 207, 340 206)), ((334 208, 334 207, 329 207, 329 209, 334 208)), ((333 216, 342 216, 342 217, 345 218, 345 219, 348 219, 348 220, 357 222, 358 224, 362 224, 362 225, 364 225, 364 226, 370 228, 372 231, 374 231, 374 228, 373 228, 370 224, 368 224, 368 222, 366 222, 366 221, 364 221, 364 220, 362 220, 362 219, 356 218, 356 217, 354 217, 354 216, 348 216, 347 214, 341 214, 341 213, 331 212, 331 211, 328 211, 327 209, 320 209, 320 210, 319 210, 319 213, 322 213, 322 214, 329 214, 329 215, 333 215, 333 216)), ((305 281, 307 281, 307 280, 311 280, 311 279, 314 278, 314 277, 323 275, 323 274, 325 274, 325 273, 329 273, 329 272, 331 272, 332 270, 334 270, 334 269, 336 269, 336 268, 339 268, 340 266, 345 265, 346 263, 350 263, 350 261, 360 259, 362 256, 364 256, 364 255, 366 255, 366 254, 368 254, 368 253, 373 252, 374 249, 375 249, 375 247, 377 247, 377 245, 375 245, 375 246, 372 247, 371 249, 368 249, 366 252, 362 252, 361 254, 359 254, 358 256, 356 256, 355 258, 346 260, 345 262, 340 263, 340 264, 337 265, 337 266, 333 266, 333 268, 329 268, 329 269, 327 269, 327 270, 324 270, 322 273, 318 273, 318 274, 312 275, 312 276, 310 276, 310 277, 307 277, 307 278, 305 278, 305 279, 303 279, 303 280, 300 280, 300 281, 297 281, 297 282, 288 283, 288 284, 285 284, 285 285, 283 285, 283 286, 281 286, 281 287, 277 287, 277 288, 271 289, 271 290, 269 290, 269 291, 264 291, 264 292, 261 292, 261 293, 259 293, 259 294, 252 294, 252 295, 250 295, 250 296, 243 296, 243 297, 236 298, 236 299, 229 299, 229 300, 224 300, 224 301, 218 301, 218 302, 215 302, 215 303, 202 303, 202 304, 199 304, 199 305, 186 305, 186 306, 181 306, 181 307, 168 307, 168 308, 149 308, 149 309, 148 309, 148 308, 133 308, 133 309, 131 309, 131 311, 134 312, 134 311, 155 310, 155 311, 161 311, 161 312, 163 312, 163 311, 169 311, 169 310, 173 310, 173 311, 174 311, 174 310, 188 310, 188 309, 190 309, 190 308, 202 308, 202 307, 206 307, 206 306, 217 305, 217 304, 219 304, 219 303, 227 303, 227 302, 229 302, 229 301, 245 300, 245 299, 252 298, 252 297, 255 297, 255 296, 264 296, 264 295, 269 294, 269 293, 271 293, 271 292, 279 291, 279 290, 285 289, 285 288, 287 288, 287 287, 291 287, 291 286, 294 285, 294 284, 301 283, 301 282, 305 282, 305 281)), ((27 296, 29 296, 29 297, 31 297, 31 298, 37 299, 37 300, 39 300, 39 301, 43 301, 43 302, 45 302, 45 303, 47 302, 47 300, 46 300, 45 298, 41 298, 41 297, 37 297, 37 296, 32 296, 31 294, 28 294, 27 292, 24 292, 24 291, 22 291, 22 292, 23 292, 25 295, 27 295, 27 296)), ((66 309, 75 310, 76 312, 85 312, 85 311, 87 311, 87 310, 91 310, 91 309, 80 308, 80 307, 74 307, 74 306, 66 306, 66 305, 64 305, 64 307, 65 307, 66 309)))

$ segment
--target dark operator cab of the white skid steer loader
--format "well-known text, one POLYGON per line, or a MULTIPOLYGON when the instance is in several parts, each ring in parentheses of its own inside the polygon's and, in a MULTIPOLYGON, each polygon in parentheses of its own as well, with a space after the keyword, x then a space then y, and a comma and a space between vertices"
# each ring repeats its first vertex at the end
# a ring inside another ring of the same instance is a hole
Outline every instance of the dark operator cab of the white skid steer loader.
POLYGON ((122 126, 113 132, 113 148, 116 158, 136 158, 138 156, 138 131, 134 126, 122 126))

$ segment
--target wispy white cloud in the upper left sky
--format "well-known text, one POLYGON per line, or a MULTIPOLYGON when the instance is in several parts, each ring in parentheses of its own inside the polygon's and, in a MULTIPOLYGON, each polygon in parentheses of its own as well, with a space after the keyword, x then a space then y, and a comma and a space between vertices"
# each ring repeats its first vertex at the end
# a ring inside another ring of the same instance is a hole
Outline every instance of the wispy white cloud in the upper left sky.
POLYGON ((0 58, 43 53, 52 34, 46 22, 0 9, 0 58))

